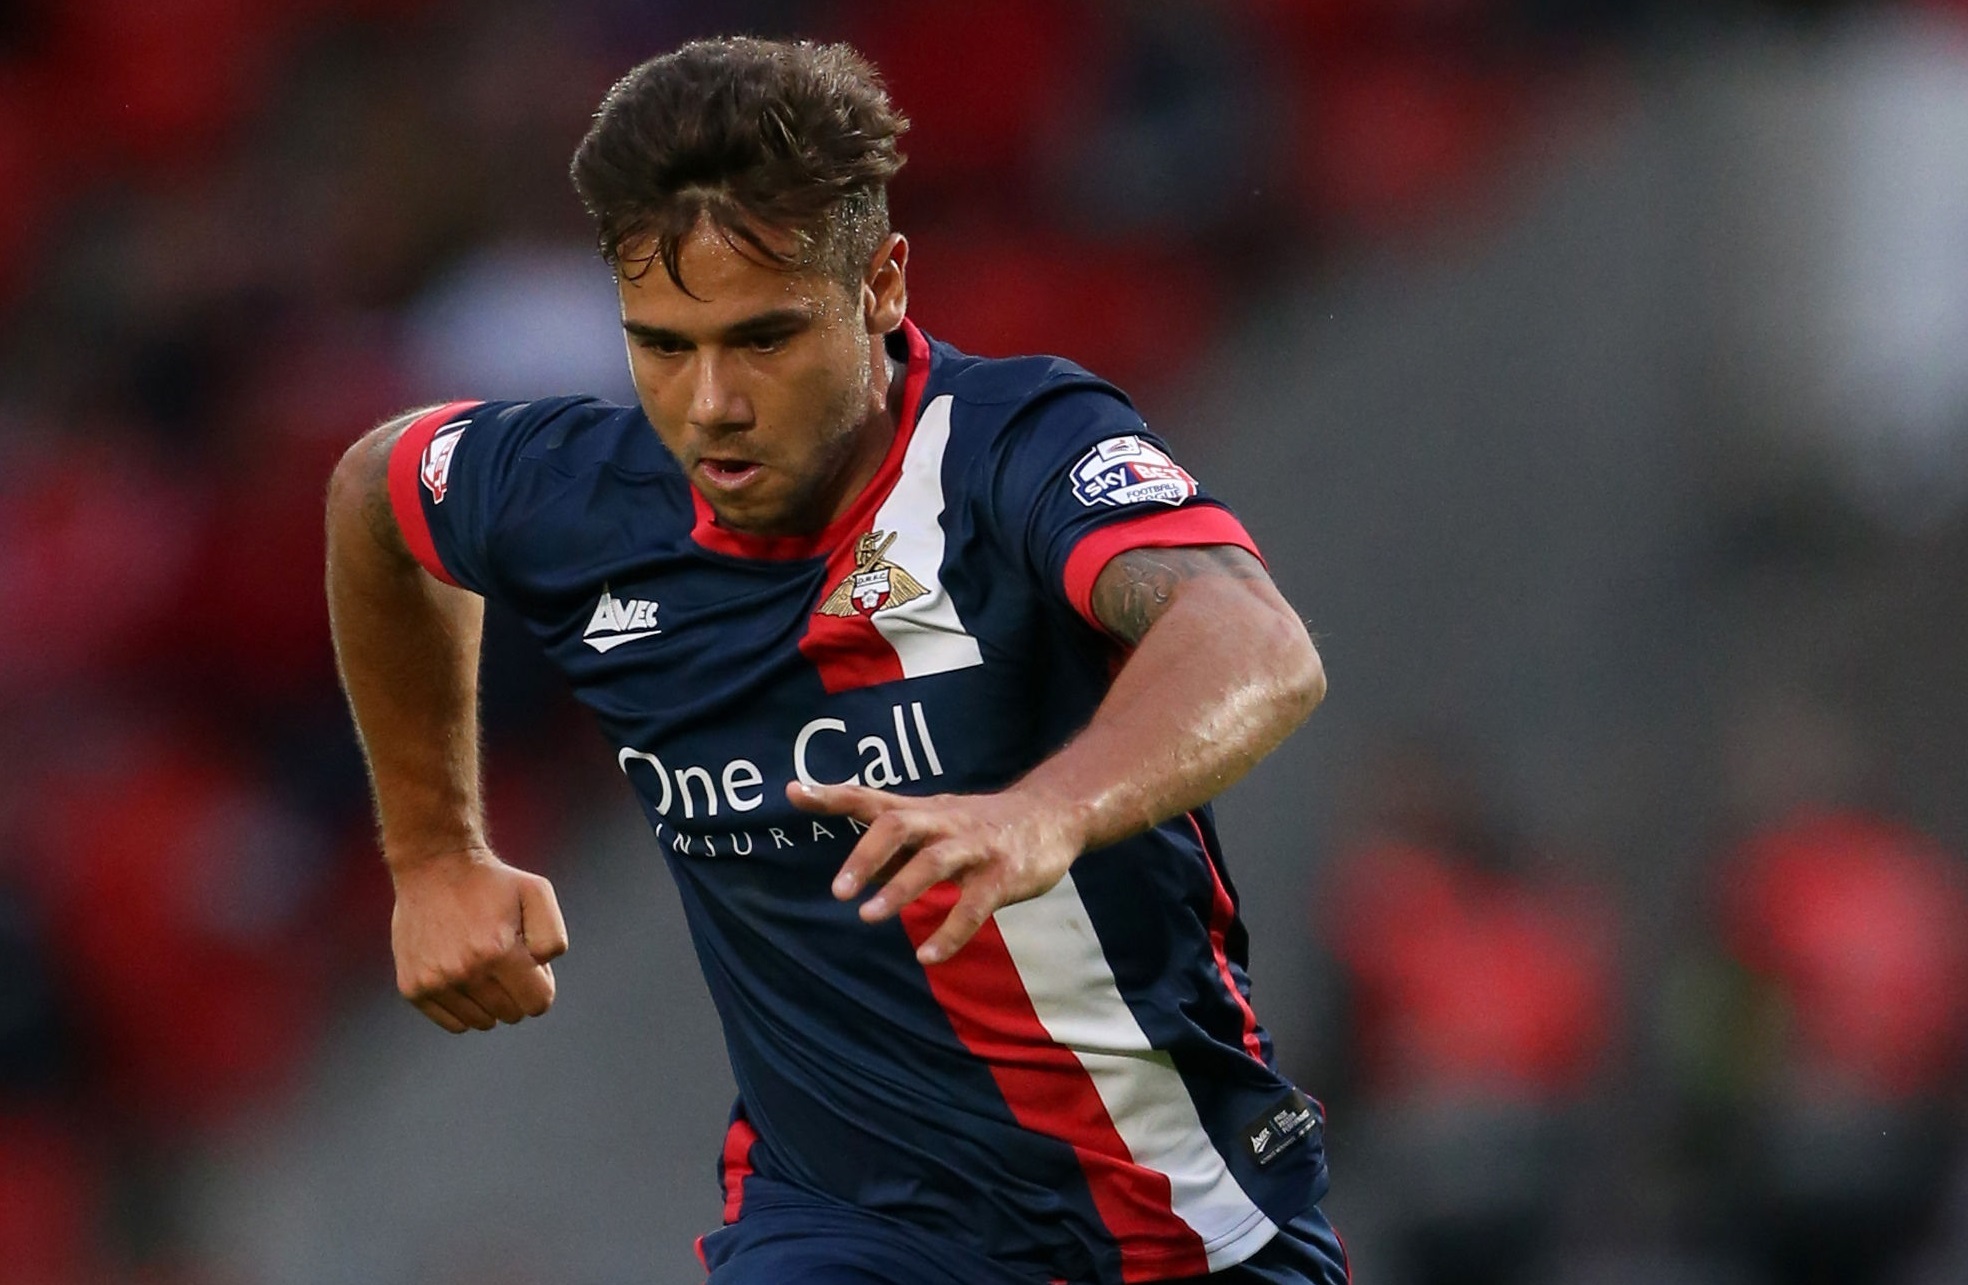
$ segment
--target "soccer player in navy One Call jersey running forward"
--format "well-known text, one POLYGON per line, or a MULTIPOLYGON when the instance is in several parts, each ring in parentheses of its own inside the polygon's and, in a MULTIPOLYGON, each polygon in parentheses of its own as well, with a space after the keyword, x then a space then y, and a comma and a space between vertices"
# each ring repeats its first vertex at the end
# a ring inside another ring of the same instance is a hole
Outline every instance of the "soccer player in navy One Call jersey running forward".
POLYGON ((398 986, 490 1029, 567 948, 486 840, 490 596, 683 893, 738 1082, 716 1285, 1336 1285, 1208 811, 1319 657, 1118 390, 905 319, 903 128, 842 45, 638 67, 573 173, 640 403, 455 401, 337 468, 398 986))

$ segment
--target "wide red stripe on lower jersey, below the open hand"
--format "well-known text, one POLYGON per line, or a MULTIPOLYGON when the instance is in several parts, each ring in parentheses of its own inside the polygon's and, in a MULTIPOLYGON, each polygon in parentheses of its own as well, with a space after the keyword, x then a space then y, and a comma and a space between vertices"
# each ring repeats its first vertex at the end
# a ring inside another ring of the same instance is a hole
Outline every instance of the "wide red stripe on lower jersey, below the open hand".
MULTIPOLYGON (((901 911, 921 947, 956 905, 956 886, 937 884, 901 911)), ((1073 1147, 1094 1212, 1120 1246, 1124 1281, 1208 1271, 1195 1230, 1175 1214, 1169 1179, 1134 1163, 1086 1067, 1047 1033, 994 921, 943 964, 923 970, 956 1039, 990 1067, 1012 1118, 1073 1147)))

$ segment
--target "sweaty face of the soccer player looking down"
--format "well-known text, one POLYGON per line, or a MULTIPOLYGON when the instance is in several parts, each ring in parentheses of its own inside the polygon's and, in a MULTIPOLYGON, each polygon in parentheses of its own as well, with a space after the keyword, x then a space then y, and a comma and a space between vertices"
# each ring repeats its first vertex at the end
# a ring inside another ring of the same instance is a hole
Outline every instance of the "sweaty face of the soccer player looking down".
POLYGON ((707 222, 679 268, 695 299, 661 264, 618 279, 644 413, 720 525, 819 531, 893 437, 878 335, 899 313, 888 321, 876 283, 848 291, 819 272, 760 264, 707 222))

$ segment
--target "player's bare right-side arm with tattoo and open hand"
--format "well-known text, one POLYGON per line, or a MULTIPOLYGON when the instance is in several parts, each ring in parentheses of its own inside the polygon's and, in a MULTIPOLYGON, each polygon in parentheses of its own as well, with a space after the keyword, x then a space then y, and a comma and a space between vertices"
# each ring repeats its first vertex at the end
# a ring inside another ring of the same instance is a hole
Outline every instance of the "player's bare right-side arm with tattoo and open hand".
POLYGON ((801 807, 870 828, 836 897, 882 887, 886 919, 941 882, 960 891, 919 958, 956 952, 990 915, 1051 889, 1088 848, 1206 803, 1324 697, 1319 653, 1263 567, 1230 545, 1134 549, 1094 581, 1094 616, 1134 645, 1092 722, 996 795, 911 799, 862 785, 791 785, 801 807))

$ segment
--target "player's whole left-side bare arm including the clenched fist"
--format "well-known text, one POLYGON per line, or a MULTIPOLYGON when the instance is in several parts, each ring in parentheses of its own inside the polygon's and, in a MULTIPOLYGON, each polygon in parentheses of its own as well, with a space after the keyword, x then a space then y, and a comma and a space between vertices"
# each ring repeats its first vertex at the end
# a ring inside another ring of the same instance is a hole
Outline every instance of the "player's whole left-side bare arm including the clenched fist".
POLYGON ((500 862, 478 793, 484 600, 431 577, 390 508, 390 449, 415 413, 368 433, 329 482, 329 620, 396 884, 398 988, 447 1031, 553 1002, 567 948, 551 886, 500 862))

